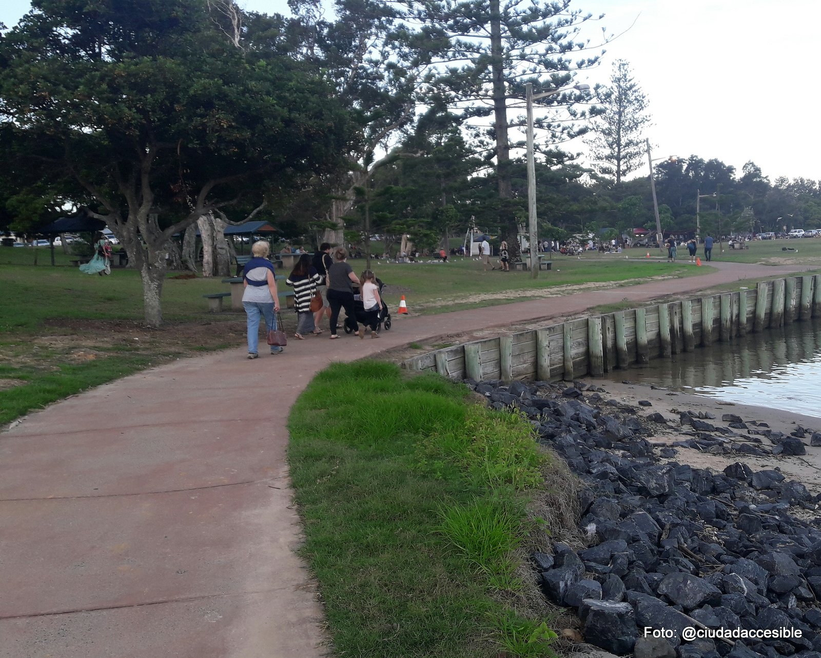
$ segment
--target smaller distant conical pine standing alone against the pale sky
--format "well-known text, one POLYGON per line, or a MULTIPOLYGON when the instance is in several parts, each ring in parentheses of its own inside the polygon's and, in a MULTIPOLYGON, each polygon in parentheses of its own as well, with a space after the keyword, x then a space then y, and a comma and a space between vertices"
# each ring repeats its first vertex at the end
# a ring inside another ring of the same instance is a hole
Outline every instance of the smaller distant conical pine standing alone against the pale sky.
POLYGON ((589 140, 591 154, 599 162, 603 176, 615 177, 616 184, 644 161, 644 127, 650 122, 647 98, 623 59, 613 65, 611 85, 596 90, 603 113, 594 123, 595 137, 589 140))

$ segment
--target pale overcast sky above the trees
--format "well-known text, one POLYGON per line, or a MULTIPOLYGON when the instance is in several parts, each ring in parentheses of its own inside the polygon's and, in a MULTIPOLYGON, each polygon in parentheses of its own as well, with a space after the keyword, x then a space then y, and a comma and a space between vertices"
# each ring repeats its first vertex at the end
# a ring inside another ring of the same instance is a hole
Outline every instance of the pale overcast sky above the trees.
MULTIPOLYGON (((258 12, 287 12, 285 0, 241 0, 258 12)), ((0 3, 0 21, 13 25, 25 0, 0 3)), ((649 99, 654 157, 696 154, 741 172, 753 160, 776 177, 821 179, 818 0, 578 0, 606 14, 589 25, 619 35, 602 67, 578 81, 607 82, 612 62, 630 62, 649 99), (635 21, 635 25, 634 24, 635 21), (631 25, 633 25, 631 27, 631 25)))

